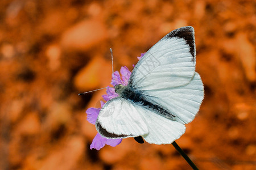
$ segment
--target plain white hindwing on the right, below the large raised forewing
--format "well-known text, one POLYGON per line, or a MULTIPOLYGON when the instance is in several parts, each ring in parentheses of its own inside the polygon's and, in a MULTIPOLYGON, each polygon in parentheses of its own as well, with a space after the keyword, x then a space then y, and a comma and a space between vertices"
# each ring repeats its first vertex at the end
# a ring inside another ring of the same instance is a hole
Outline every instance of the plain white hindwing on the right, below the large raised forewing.
POLYGON ((195 73, 191 82, 185 86, 144 91, 142 95, 144 99, 161 105, 174 114, 176 121, 188 124, 199 111, 204 99, 204 86, 200 75, 195 73))

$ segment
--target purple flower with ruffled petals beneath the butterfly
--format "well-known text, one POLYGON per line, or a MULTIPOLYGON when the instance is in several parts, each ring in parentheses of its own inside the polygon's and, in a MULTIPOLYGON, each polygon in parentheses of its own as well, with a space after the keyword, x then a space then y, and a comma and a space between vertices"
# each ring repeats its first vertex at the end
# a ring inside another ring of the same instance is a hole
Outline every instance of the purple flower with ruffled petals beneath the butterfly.
MULTIPOLYGON (((130 75, 131 75, 131 71, 129 71, 129 69, 126 66, 123 66, 123 67, 121 67, 120 73, 122 76, 120 76, 118 71, 115 71, 113 73, 112 81, 111 81, 111 84, 113 86, 115 86, 117 84, 122 84, 123 86, 127 85, 130 75)), ((102 95, 103 99, 106 101, 118 96, 118 94, 115 93, 114 88, 110 88, 110 87, 107 88, 106 93, 107 93, 106 95, 102 95)), ((103 101, 101 101, 101 108, 103 107, 104 104, 105 103, 103 101)), ((87 111, 86 111, 87 120, 91 124, 95 124, 101 108, 87 109, 87 111)), ((122 142, 122 139, 107 139, 107 138, 102 137, 99 133, 97 133, 93 139, 92 144, 90 145, 90 149, 96 148, 96 150, 100 150, 105 145, 117 146, 121 142, 122 142)))

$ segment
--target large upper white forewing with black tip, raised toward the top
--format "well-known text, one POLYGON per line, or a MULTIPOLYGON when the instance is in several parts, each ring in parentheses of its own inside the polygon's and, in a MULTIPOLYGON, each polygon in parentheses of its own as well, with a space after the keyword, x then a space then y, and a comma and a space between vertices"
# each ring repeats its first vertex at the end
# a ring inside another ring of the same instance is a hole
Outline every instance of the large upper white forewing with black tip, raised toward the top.
POLYGON ((184 86, 195 74, 195 54, 193 27, 176 29, 144 54, 129 84, 143 91, 184 86))

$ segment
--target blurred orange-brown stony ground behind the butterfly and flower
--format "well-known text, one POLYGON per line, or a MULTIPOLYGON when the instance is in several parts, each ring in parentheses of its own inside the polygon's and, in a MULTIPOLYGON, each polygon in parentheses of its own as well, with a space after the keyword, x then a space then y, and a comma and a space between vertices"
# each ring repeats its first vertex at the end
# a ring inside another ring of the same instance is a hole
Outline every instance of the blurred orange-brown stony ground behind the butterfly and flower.
POLYGON ((255 1, 0 1, 0 169, 190 169, 172 145, 100 151, 86 109, 114 70, 195 28, 205 99, 178 145, 199 169, 256 169, 255 1))

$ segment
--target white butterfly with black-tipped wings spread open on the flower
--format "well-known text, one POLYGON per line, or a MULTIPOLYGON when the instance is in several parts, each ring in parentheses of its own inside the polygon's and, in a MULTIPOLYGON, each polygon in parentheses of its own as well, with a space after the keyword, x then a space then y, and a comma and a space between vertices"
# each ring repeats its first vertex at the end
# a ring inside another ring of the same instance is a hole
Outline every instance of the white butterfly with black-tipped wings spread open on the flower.
POLYGON ((193 27, 168 33, 139 60, 127 86, 114 86, 119 96, 102 107, 98 133, 113 139, 142 136, 158 145, 180 138, 204 98, 195 66, 193 27))

